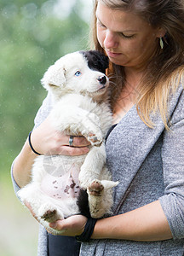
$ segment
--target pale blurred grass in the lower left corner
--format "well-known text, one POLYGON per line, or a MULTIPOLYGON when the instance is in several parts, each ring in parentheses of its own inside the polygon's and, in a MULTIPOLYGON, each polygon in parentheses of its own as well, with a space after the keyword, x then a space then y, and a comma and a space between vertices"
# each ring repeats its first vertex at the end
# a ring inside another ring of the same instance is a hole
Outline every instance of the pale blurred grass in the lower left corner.
POLYGON ((1 256, 37 255, 38 224, 14 195, 10 175, 0 173, 1 256))

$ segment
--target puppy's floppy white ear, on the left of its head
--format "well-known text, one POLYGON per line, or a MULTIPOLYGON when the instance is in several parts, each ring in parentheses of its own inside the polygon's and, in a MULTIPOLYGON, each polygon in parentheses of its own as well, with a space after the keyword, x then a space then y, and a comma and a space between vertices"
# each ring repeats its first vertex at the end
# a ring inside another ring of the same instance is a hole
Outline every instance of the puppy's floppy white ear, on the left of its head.
POLYGON ((41 83, 46 90, 49 90, 49 88, 53 86, 62 87, 66 84, 66 70, 61 59, 62 58, 56 61, 54 65, 50 66, 43 75, 41 83))

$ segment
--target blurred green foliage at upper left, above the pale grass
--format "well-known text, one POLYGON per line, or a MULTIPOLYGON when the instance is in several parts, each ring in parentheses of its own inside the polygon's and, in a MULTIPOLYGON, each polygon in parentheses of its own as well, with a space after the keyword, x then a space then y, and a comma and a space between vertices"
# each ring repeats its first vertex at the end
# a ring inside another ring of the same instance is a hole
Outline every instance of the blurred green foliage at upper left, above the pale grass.
POLYGON ((82 3, 74 2, 70 14, 59 19, 52 11, 56 0, 1 0, 0 175, 9 172, 32 130, 46 96, 43 73, 61 55, 86 48, 88 24, 81 18, 82 3))

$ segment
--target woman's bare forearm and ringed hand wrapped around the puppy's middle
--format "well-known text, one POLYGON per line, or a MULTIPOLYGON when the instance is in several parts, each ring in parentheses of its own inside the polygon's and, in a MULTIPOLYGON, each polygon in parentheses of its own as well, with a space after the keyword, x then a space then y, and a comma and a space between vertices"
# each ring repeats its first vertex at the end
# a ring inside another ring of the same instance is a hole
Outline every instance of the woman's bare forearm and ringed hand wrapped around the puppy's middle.
MULTIPOLYGON (((69 136, 64 132, 55 131, 48 116, 35 130, 32 131, 32 147, 40 154, 81 155, 89 152, 89 142, 84 137, 73 137, 73 147, 69 147, 69 136)), ((37 154, 26 140, 20 154, 14 160, 13 176, 16 183, 24 187, 31 180, 31 170, 37 154)))

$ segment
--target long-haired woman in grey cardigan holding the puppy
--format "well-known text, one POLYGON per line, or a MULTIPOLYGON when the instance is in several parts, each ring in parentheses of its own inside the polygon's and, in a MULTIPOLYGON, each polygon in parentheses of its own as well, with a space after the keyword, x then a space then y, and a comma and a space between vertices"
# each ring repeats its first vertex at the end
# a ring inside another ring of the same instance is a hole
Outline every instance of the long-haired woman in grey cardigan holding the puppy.
MULTIPOLYGON (((183 255, 183 3, 95 0, 93 32, 95 49, 112 63, 114 129, 106 154, 113 179, 121 183, 114 216, 96 222, 81 255, 183 255)), ((34 148, 42 154, 85 154, 84 138, 74 138, 77 148, 67 147, 69 138, 53 131, 49 117, 43 121, 50 105, 48 97, 37 113, 34 148)), ((35 156, 26 142, 14 161, 20 187, 29 182, 35 156)), ((83 216, 72 216, 50 225, 65 236, 80 236, 85 224, 83 216)))

